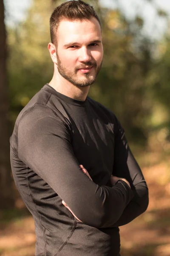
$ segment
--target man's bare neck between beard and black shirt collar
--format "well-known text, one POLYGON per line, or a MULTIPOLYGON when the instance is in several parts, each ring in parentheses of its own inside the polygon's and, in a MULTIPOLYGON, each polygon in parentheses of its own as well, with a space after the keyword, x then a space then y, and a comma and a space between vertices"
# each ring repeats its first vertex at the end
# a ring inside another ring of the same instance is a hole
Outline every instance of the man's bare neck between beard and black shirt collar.
POLYGON ((48 83, 53 87, 57 92, 64 94, 72 99, 78 99, 85 101, 90 86, 78 87, 74 84, 71 84, 68 80, 63 78, 58 72, 54 69, 54 75, 51 81, 48 83))

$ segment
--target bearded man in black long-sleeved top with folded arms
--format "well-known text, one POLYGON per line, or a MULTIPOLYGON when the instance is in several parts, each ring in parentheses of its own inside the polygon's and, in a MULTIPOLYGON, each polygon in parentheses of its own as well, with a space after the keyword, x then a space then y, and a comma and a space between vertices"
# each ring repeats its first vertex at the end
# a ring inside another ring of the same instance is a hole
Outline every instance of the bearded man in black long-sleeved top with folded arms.
POLYGON ((50 19, 52 80, 20 112, 11 167, 34 217, 36 256, 118 256, 119 226, 142 214, 148 189, 116 116, 89 98, 102 66, 92 6, 58 6, 50 19))

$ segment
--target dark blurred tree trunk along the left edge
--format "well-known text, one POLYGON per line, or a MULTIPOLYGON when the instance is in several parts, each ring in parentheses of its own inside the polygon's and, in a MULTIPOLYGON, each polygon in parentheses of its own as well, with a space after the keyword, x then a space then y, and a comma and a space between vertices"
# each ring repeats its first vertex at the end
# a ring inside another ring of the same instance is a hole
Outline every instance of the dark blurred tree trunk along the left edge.
POLYGON ((6 29, 4 5, 0 0, 0 209, 13 207, 11 168, 9 160, 9 125, 6 71, 6 29))

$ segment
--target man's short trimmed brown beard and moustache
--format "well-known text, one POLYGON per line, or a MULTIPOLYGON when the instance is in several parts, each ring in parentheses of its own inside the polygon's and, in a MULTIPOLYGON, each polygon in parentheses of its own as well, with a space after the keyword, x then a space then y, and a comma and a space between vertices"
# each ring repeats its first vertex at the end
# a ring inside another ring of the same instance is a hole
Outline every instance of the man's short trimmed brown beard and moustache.
POLYGON ((99 74, 99 71, 102 67, 102 62, 99 66, 97 66, 96 62, 92 63, 91 61, 88 62, 82 62, 82 64, 84 64, 84 67, 81 65, 81 67, 76 67, 73 71, 68 70, 60 61, 59 56, 56 52, 57 55, 57 68, 58 68, 58 72, 59 74, 65 78, 66 80, 68 80, 69 82, 71 82, 71 84, 74 84, 77 87, 85 87, 85 86, 89 86, 91 84, 93 84, 96 80, 97 75, 99 74), (77 76, 77 72, 79 69, 83 69, 86 66, 93 66, 94 70, 95 70, 95 75, 90 75, 90 74, 83 74, 84 79, 80 79, 77 76))

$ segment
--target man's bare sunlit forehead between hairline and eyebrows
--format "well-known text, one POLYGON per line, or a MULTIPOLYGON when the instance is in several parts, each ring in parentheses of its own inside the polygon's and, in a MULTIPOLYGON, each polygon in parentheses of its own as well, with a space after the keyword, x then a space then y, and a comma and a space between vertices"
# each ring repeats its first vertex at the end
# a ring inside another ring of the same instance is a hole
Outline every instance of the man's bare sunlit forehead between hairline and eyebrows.
POLYGON ((62 20, 57 29, 58 44, 82 43, 101 39, 101 36, 101 27, 95 17, 90 20, 62 20))

